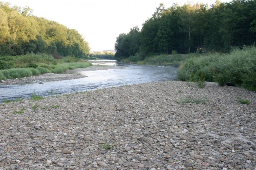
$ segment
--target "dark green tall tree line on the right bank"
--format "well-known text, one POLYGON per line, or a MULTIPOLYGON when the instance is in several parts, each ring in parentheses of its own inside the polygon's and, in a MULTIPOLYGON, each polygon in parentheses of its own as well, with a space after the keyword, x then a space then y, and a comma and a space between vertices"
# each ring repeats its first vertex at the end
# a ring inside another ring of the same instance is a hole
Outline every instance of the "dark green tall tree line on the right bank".
POLYGON ((229 52, 233 46, 256 42, 256 0, 233 0, 212 6, 160 4, 141 31, 137 26, 119 34, 117 59, 150 54, 185 54, 206 49, 229 52))

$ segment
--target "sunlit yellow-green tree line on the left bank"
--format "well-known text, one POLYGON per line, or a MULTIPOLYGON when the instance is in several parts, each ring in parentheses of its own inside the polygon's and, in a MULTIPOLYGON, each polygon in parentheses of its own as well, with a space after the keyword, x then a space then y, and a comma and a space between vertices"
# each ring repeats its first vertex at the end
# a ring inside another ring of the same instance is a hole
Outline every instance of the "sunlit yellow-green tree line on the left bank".
POLYGON ((47 53, 86 57, 88 43, 75 29, 32 15, 29 7, 0 2, 0 55, 47 53))

